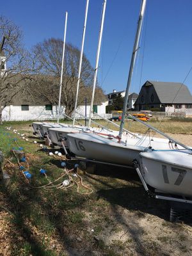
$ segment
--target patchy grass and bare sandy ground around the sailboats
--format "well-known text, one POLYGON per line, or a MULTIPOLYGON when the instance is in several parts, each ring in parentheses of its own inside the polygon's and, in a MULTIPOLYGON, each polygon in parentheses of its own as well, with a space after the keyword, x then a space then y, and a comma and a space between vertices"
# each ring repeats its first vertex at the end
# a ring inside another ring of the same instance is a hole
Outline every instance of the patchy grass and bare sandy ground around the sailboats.
MULTIPOLYGON (((82 175, 83 184, 93 190, 90 195, 82 194, 90 191, 84 187, 77 191, 76 184, 66 190, 33 188, 49 182, 40 175, 41 168, 47 170, 49 180, 60 177, 64 157, 50 157, 48 152, 53 149, 45 152, 40 148, 44 142, 33 136, 29 124, 14 122, 0 127, 0 148, 8 159, 4 170, 10 175, 10 184, 0 185, 0 255, 192 254, 191 224, 170 223, 168 203, 149 198, 134 170, 97 164, 96 173, 82 175), (26 133, 29 141, 7 131, 8 125, 26 133), (10 153, 18 145, 26 152, 33 175, 30 184, 10 153)), ((156 120, 150 124, 158 126, 156 120)), ((136 122, 128 125, 131 131, 141 132, 136 122)), ((167 120, 161 125, 165 132, 192 133, 190 122, 167 120)), ((71 169, 77 161, 65 163, 71 169)))

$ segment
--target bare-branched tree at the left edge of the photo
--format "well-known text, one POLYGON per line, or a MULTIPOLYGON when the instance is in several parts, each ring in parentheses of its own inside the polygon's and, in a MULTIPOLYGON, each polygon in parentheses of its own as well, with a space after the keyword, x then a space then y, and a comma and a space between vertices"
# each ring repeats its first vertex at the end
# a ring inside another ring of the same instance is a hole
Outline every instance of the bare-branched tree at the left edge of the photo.
POLYGON ((0 16, 0 122, 2 111, 29 79, 33 59, 24 50, 22 32, 12 21, 0 16))

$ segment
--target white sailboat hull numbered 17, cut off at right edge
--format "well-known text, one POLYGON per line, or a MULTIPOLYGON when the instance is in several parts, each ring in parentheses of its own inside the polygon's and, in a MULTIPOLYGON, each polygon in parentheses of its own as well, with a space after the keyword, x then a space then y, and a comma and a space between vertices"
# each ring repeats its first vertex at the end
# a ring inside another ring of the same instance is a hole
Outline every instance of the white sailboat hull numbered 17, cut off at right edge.
POLYGON ((188 150, 154 150, 142 152, 140 157, 141 174, 148 185, 163 193, 192 196, 192 156, 188 150))

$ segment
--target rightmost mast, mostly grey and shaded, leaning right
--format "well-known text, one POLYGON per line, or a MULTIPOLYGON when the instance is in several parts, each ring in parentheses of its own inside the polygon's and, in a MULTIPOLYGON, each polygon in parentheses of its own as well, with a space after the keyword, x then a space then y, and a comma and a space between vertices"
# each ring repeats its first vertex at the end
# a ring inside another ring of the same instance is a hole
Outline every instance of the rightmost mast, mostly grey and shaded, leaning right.
POLYGON ((121 124, 120 124, 120 131, 119 131, 119 134, 118 134, 119 142, 122 140, 122 131, 123 131, 123 128, 124 128, 125 115, 126 115, 126 110, 127 110, 127 102, 128 102, 128 97, 129 97, 129 88, 130 88, 130 85, 131 85, 131 78, 132 78, 132 71, 133 71, 133 67, 134 67, 134 62, 135 62, 136 54, 137 54, 137 51, 138 51, 138 44, 139 44, 139 40, 140 40, 141 26, 142 26, 142 22, 143 22, 143 15, 144 15, 144 12, 145 12, 146 2, 147 2, 147 0, 142 0, 142 3, 141 3, 140 17, 139 17, 139 20, 138 20, 138 28, 137 28, 136 37, 135 37, 135 40, 134 40, 134 47, 133 47, 132 57, 131 57, 131 65, 130 65, 130 68, 129 68, 127 88, 126 88, 126 92, 125 92, 122 120, 121 120, 121 124))

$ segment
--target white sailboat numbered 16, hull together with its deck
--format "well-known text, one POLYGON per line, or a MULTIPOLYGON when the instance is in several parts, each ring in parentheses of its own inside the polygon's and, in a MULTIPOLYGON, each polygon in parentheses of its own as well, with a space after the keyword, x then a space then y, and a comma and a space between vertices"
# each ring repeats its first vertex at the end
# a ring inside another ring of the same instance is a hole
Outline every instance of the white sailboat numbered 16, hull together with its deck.
MULTIPOLYGON (((139 161, 140 152, 146 150, 149 146, 155 149, 170 150, 168 140, 161 138, 149 138, 143 140, 140 138, 127 138, 127 145, 125 145, 126 138, 122 138, 124 143, 118 143, 116 139, 109 140, 97 134, 68 134, 68 147, 70 151, 76 156, 86 157, 88 159, 95 159, 115 164, 132 164, 134 159, 139 161), (78 147, 78 143, 83 147, 78 147), (81 150, 81 148, 83 148, 81 150)), ((122 140, 122 141, 123 141, 122 140)))

